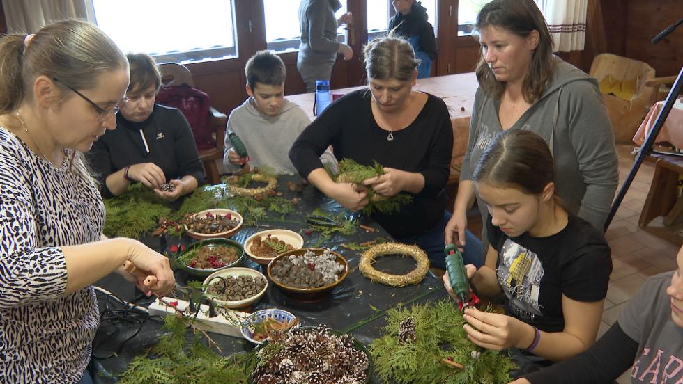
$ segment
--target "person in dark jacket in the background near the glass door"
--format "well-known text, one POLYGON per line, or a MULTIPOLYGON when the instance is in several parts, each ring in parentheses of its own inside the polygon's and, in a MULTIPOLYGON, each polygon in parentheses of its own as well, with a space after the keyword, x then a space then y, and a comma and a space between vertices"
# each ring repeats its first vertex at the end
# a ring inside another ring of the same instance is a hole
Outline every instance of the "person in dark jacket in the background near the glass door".
POLYGON ((413 45, 415 58, 420 60, 417 78, 429 77, 437 48, 434 28, 427 22, 427 9, 415 0, 393 0, 392 4, 396 15, 389 22, 390 33, 406 38, 413 45))

